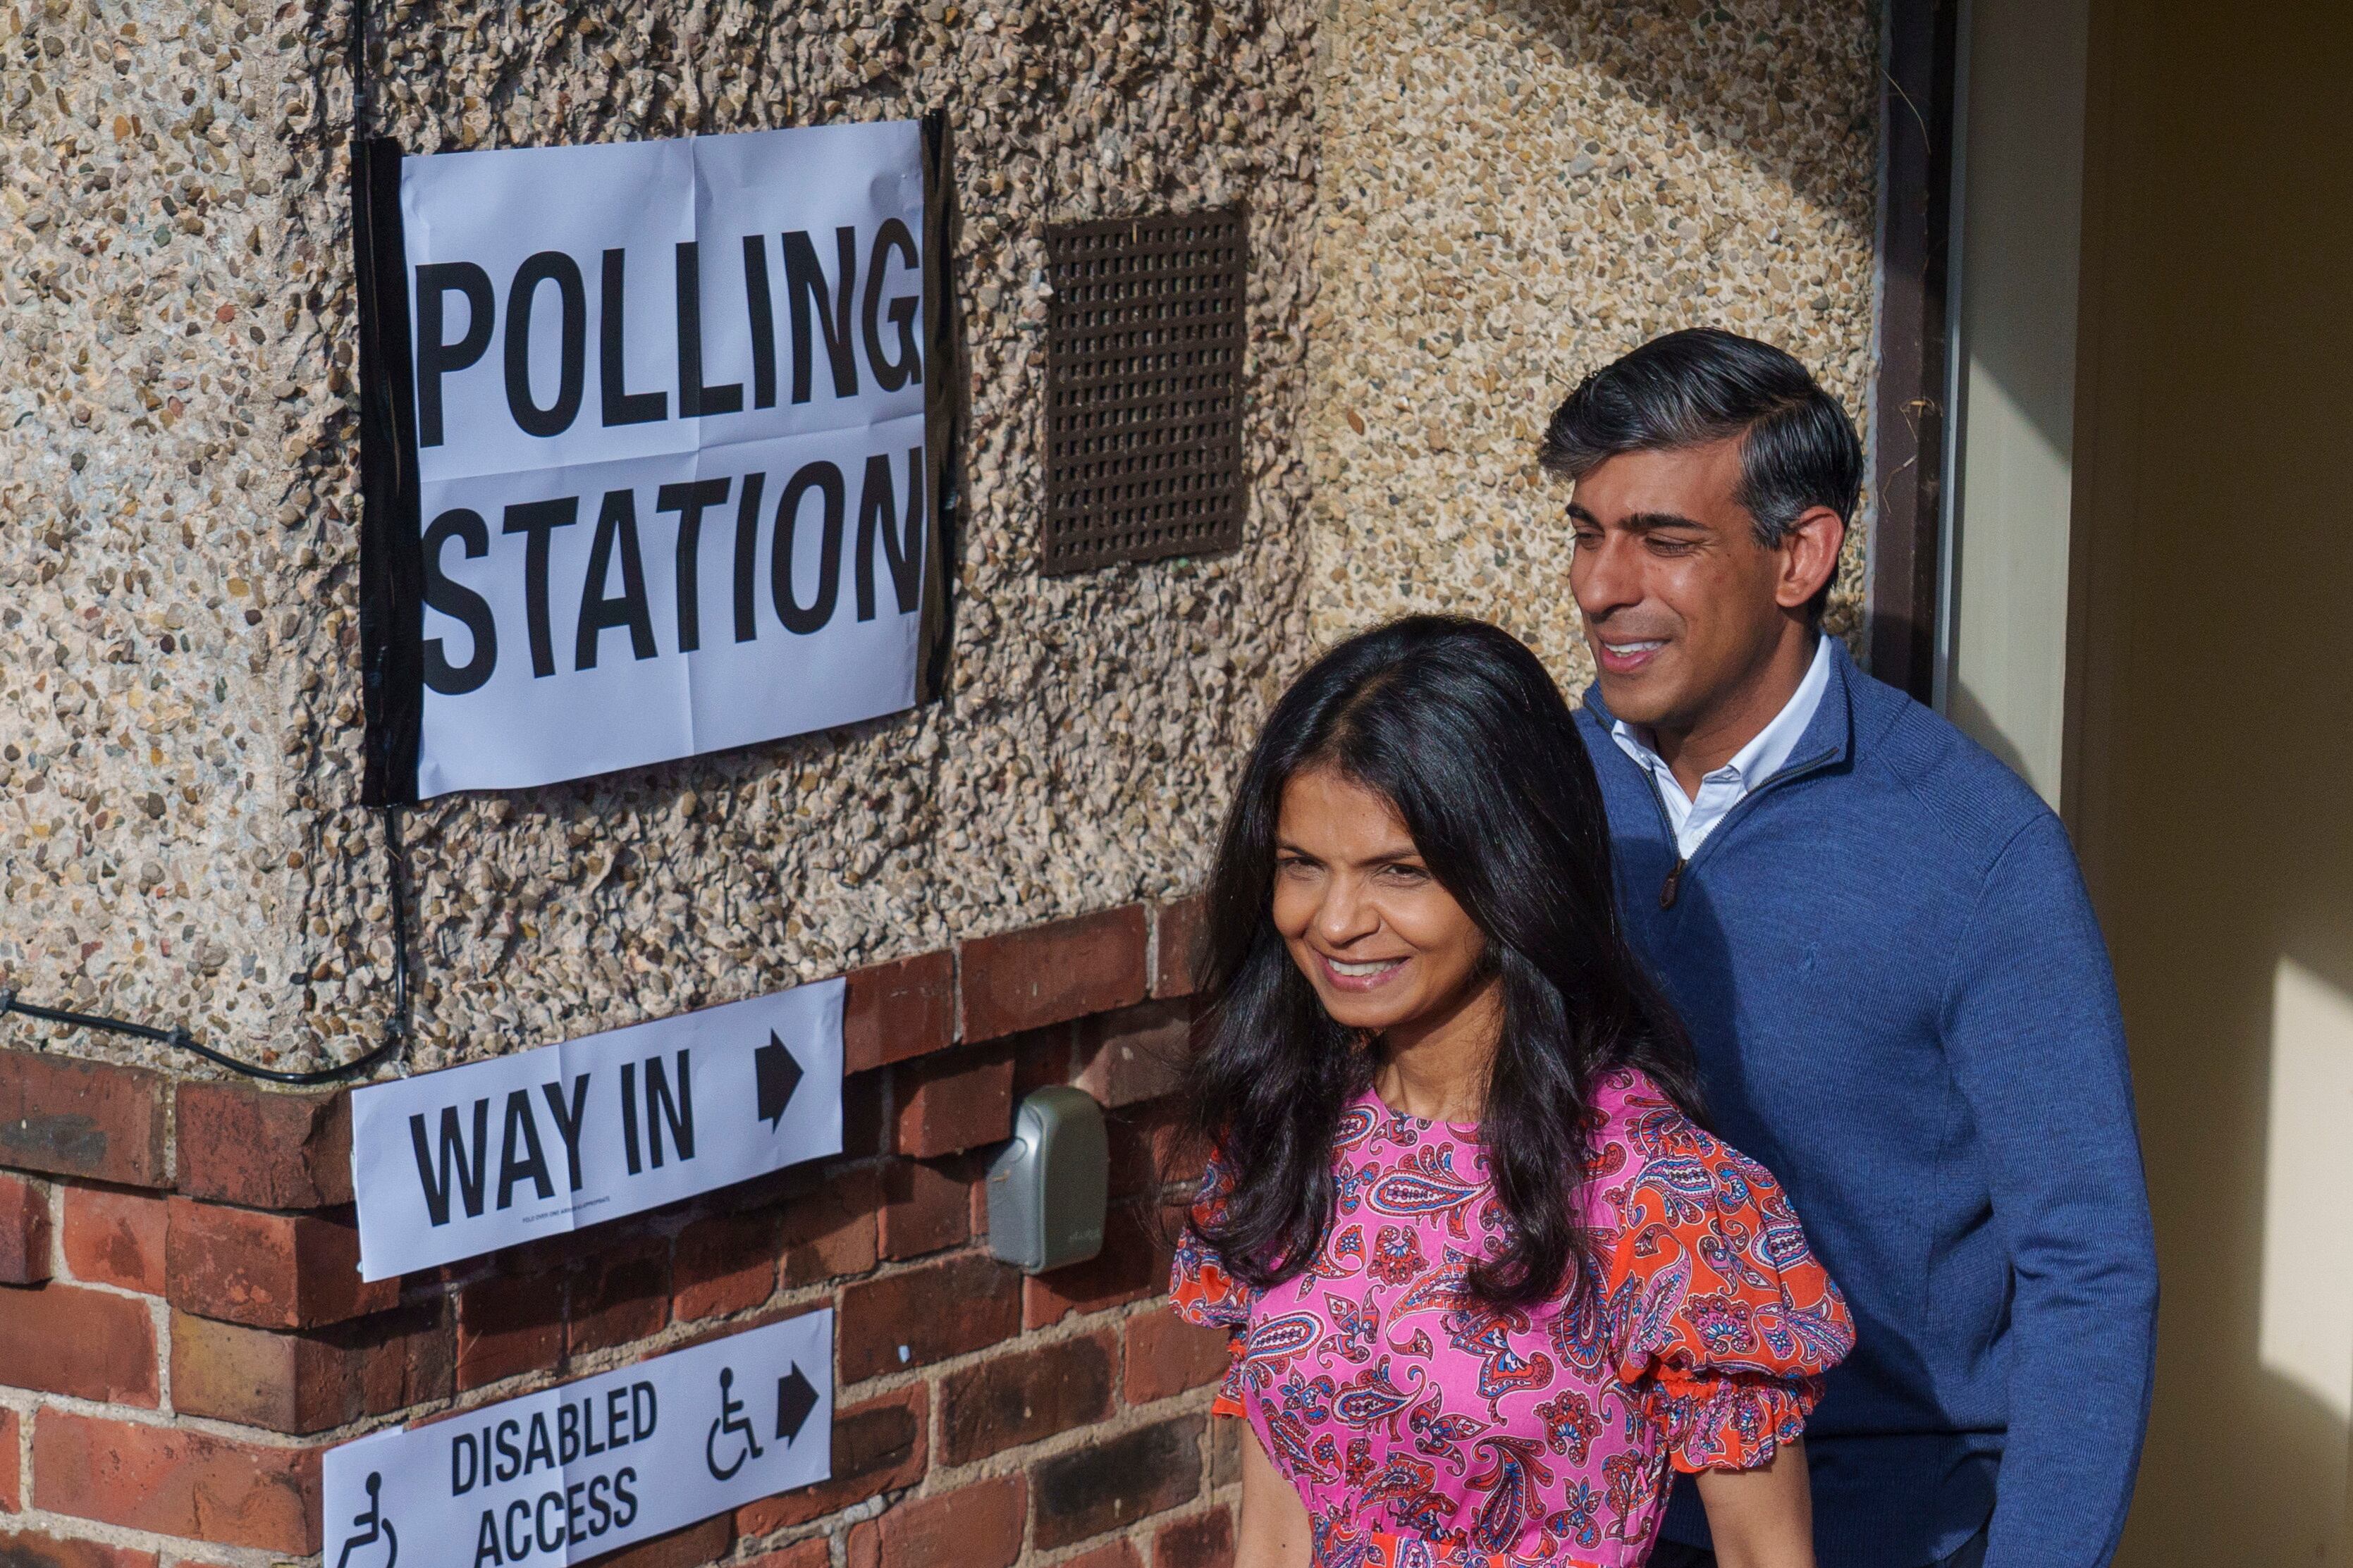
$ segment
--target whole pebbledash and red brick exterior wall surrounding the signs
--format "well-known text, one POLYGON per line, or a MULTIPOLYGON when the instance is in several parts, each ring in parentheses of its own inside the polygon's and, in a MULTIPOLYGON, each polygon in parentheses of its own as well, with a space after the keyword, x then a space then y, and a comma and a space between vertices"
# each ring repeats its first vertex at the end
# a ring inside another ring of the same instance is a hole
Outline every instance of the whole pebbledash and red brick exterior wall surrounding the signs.
MULTIPOLYGON (((386 1006, 358 788, 336 0, 0 0, 0 987, 275 1067, 386 1006)), ((946 701, 407 816, 409 1070, 849 976, 840 1161, 355 1284, 341 1093, 0 1023, 0 1563, 320 1549, 318 1453, 812 1305, 835 1481, 633 1568, 1181 1568, 1231 1552, 1221 1347, 1158 1305, 1167 1067, 1226 780, 1320 639, 1475 609, 1581 679, 1574 374, 1758 329, 1864 411, 1857 0, 388 5, 412 150, 955 122, 969 355, 946 701), (1249 209, 1247 543, 1040 578, 1047 221, 1249 209), (1313 484, 1311 484, 1313 477, 1313 484), (974 1197, 1031 1086, 1113 1112, 1101 1260, 974 1197)), ((1842 590, 1835 625, 1854 625, 1842 590)))

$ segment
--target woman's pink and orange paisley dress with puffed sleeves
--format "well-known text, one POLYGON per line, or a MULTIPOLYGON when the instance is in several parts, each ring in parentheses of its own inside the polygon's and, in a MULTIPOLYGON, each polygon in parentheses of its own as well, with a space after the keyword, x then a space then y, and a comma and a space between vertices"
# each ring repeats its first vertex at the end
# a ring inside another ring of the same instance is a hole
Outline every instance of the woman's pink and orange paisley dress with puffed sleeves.
MULTIPOLYGON (((1635 1072, 1605 1079, 1584 1190, 1595 1291, 1468 1302, 1501 1251, 1478 1128, 1365 1093, 1332 1150, 1315 1262, 1259 1293, 1198 1229, 1172 1298, 1233 1338, 1217 1408, 1299 1488, 1318 1568, 1633 1568, 1671 1469, 1753 1469, 1854 1345, 1781 1185, 1635 1072)), ((1202 1225, 1231 1190, 1212 1161, 1202 1225)))

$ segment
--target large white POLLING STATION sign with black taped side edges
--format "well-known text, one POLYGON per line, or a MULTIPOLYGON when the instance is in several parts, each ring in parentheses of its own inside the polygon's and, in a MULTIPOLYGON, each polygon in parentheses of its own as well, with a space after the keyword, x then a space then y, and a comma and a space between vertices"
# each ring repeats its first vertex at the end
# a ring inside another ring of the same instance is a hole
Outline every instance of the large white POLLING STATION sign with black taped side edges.
POLYGON ((941 127, 362 148, 369 802, 934 693, 941 127))

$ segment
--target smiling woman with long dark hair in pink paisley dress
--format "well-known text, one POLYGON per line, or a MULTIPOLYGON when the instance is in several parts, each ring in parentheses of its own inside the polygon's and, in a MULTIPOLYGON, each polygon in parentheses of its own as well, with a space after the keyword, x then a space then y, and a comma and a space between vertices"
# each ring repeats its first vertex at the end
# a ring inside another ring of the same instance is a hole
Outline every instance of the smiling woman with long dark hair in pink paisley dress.
POLYGON ((1233 1335, 1235 1568, 1631 1568, 1671 1469, 1809 1568, 1798 1434, 1854 1342, 1699 1126, 1600 795, 1520 642, 1417 616, 1275 705, 1209 882, 1174 1305, 1233 1335))

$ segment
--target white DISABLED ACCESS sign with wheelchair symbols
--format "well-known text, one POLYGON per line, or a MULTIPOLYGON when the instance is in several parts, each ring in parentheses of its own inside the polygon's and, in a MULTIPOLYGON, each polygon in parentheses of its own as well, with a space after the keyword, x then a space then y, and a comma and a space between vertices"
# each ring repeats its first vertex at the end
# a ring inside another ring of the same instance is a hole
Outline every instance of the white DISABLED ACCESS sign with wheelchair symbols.
POLYGON ((558 1568, 833 1474, 833 1312, 327 1450, 332 1568, 558 1568))

